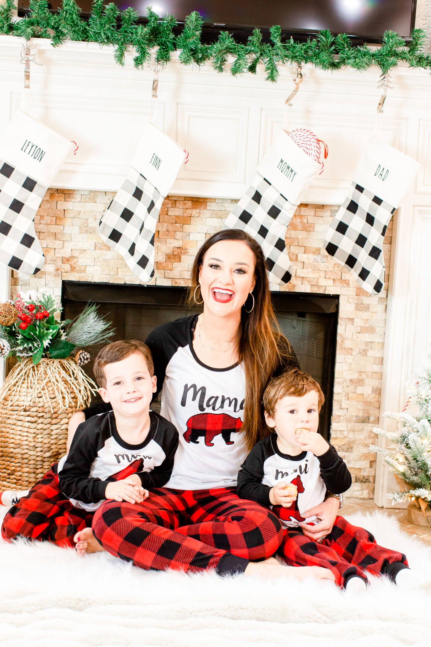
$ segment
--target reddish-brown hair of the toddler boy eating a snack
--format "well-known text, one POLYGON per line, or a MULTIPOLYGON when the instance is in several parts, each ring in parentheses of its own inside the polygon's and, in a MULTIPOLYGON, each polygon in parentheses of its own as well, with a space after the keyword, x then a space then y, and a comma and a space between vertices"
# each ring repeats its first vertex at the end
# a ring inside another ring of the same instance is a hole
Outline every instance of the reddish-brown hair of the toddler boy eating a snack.
POLYGON ((273 377, 268 382, 264 393, 264 410, 273 417, 277 402, 286 395, 297 395, 302 397, 309 391, 317 391, 319 394, 319 411, 321 410, 325 397, 321 386, 311 375, 300 371, 297 368, 286 371, 278 377, 273 377))

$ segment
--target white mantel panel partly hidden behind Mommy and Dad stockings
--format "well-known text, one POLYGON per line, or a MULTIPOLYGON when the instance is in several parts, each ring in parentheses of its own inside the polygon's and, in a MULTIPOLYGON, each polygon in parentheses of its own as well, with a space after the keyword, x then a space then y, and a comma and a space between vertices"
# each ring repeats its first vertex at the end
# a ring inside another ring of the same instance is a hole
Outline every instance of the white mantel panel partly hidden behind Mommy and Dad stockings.
MULTIPOLYGON (((304 194, 305 203, 342 204, 357 162, 373 135, 375 120, 372 115, 346 115, 346 113, 315 113, 296 111, 290 120, 289 130, 306 128, 313 131, 328 145, 328 157, 323 157, 324 170, 316 177, 304 194), (300 113, 300 114, 299 114, 300 113), (344 155, 342 154, 344 151, 344 155)), ((384 118, 377 137, 400 151, 406 151, 408 120, 384 118)), ((259 161, 266 155, 273 140, 283 126, 281 110, 262 109, 260 120, 259 161)))

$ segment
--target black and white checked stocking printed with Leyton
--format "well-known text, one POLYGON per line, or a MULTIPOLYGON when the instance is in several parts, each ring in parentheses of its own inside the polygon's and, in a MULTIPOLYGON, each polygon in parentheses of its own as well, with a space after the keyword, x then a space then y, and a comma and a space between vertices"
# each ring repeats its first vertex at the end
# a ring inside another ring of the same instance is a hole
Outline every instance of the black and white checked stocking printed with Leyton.
POLYGON ((0 263, 36 274, 45 256, 34 216, 72 143, 17 111, 0 138, 0 263))

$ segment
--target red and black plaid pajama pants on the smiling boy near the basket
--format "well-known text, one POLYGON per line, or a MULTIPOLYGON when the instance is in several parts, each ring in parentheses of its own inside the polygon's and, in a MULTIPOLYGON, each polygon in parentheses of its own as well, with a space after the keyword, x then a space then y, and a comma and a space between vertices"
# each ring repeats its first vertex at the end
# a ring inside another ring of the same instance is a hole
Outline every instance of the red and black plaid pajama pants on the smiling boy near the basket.
MULTIPOLYGON (((142 459, 134 461, 125 469, 106 479, 119 481, 142 470, 142 459)), ((18 537, 55 543, 62 548, 74 548, 75 534, 90 528, 94 512, 76 508, 61 492, 58 483, 57 463, 37 481, 27 496, 8 511, 1 536, 6 542, 18 537)))

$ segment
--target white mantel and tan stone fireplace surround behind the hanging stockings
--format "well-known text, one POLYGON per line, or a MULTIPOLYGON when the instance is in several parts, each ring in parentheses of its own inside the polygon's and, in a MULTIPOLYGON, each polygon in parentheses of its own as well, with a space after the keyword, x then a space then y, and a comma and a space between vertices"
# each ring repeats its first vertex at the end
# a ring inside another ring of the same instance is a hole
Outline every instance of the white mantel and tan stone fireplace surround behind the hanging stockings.
MULTIPOLYGON (((0 36, 0 132, 21 104, 21 42, 0 36)), ((53 49, 48 41, 34 42, 43 67, 32 66, 30 73, 30 115, 78 142, 79 150, 66 160, 36 216, 45 267, 28 278, 17 272, 10 277, 0 266, 0 296, 47 287, 59 302, 62 280, 135 283, 97 226, 130 166, 148 114, 152 72, 134 70, 132 54, 121 69, 110 47, 65 43, 53 49)), ((376 470, 368 450, 375 443, 372 428, 388 426, 383 411, 403 408, 405 382, 431 339, 431 78, 405 67, 392 74, 379 137, 422 166, 386 232, 384 289, 370 296, 322 243, 373 133, 379 70, 303 71, 291 127, 313 130, 330 156, 287 230, 293 277, 283 289, 339 294, 331 441, 352 471, 350 496, 374 495, 378 505, 388 505, 386 491, 394 483, 379 461, 376 470)), ((271 85, 263 69, 255 77, 232 78, 174 60, 162 71, 156 125, 187 148, 190 159, 160 214, 156 284, 187 285, 196 249, 222 226, 282 126, 289 72, 282 69, 271 85)))

